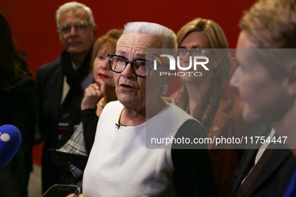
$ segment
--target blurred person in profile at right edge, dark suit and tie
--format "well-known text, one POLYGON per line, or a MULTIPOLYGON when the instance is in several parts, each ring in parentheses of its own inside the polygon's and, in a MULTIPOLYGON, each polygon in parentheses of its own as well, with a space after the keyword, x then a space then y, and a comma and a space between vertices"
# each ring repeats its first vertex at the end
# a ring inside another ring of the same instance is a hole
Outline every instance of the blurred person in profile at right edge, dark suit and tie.
POLYGON ((243 118, 273 129, 254 128, 254 136, 269 137, 269 141, 246 150, 230 196, 282 196, 296 167, 283 137, 288 135, 283 128, 290 119, 294 122, 296 112, 295 56, 293 51, 279 49, 296 48, 295 4, 296 0, 258 0, 240 21, 239 66, 230 83, 238 87, 245 102, 243 118))

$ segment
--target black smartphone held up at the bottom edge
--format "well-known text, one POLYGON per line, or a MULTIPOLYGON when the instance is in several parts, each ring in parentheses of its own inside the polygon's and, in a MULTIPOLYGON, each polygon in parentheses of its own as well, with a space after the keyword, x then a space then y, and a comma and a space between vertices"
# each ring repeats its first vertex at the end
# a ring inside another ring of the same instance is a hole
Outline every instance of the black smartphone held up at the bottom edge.
POLYGON ((66 197, 70 193, 79 194, 80 188, 74 184, 54 184, 42 196, 43 197, 66 197))

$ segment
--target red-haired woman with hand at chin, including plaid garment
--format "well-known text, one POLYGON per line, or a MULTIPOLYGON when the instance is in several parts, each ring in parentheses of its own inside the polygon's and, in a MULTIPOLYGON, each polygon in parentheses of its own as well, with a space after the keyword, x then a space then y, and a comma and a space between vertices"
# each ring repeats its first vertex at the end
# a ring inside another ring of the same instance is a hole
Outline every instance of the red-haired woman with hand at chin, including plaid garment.
POLYGON ((82 188, 83 171, 95 140, 98 118, 109 101, 117 100, 113 72, 109 67, 108 53, 114 53, 121 29, 111 29, 99 37, 93 47, 92 71, 95 83, 90 84, 78 100, 69 127, 58 143, 58 151, 74 154, 69 159, 53 152, 53 163, 59 169, 58 183, 77 184, 82 188), (82 110, 80 113, 80 109, 82 110), (86 156, 85 159, 75 155, 86 156))

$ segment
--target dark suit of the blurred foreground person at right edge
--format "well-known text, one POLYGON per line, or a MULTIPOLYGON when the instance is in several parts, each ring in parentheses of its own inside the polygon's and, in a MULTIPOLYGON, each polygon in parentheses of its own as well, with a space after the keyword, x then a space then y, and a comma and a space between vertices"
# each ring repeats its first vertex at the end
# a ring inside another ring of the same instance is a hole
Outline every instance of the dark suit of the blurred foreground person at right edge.
MULTIPOLYGON (((270 126, 265 124, 256 124, 253 128, 253 136, 267 137, 272 133, 271 129, 270 126)), ((261 169, 255 174, 255 178, 249 180, 250 183, 245 189, 244 195, 238 192, 244 190, 241 187, 246 183, 242 183, 247 177, 250 179, 250 171, 255 169, 255 162, 256 167, 258 167, 258 161, 264 153, 264 149, 259 149, 262 146, 259 143, 249 144, 234 173, 229 196, 282 196, 289 182, 289 177, 296 167, 296 159, 289 149, 271 149, 270 155, 267 156, 261 169)), ((278 148, 285 148, 280 144, 277 144, 277 146, 278 148)))

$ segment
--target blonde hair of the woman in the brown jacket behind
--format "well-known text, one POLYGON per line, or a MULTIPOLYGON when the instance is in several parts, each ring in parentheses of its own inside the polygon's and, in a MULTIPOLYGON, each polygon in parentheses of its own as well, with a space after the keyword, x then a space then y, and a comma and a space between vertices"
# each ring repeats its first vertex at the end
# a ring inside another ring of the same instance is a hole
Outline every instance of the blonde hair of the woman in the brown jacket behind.
MULTIPOLYGON (((178 46, 184 38, 194 31, 200 31, 206 34, 210 48, 228 48, 228 42, 222 28, 213 20, 204 18, 194 18, 179 30, 177 33, 178 46)), ((229 53, 226 50, 221 50, 223 59, 217 67, 218 77, 222 83, 225 83, 230 76, 232 64, 229 58, 229 53)), ((218 52, 220 53, 220 52, 218 52)), ((218 54, 219 55, 219 54, 218 54)))

